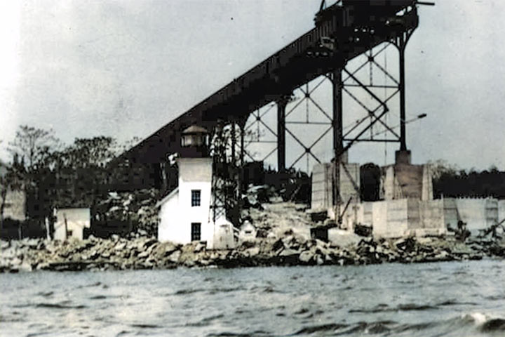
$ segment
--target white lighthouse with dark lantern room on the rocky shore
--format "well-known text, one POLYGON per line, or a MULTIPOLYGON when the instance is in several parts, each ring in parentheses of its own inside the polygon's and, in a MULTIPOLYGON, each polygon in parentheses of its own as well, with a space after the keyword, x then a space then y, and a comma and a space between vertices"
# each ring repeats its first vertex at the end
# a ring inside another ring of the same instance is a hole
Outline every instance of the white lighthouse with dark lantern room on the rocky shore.
POLYGON ((158 239, 189 244, 206 242, 209 249, 233 248, 233 227, 213 212, 213 160, 209 156, 209 134, 201 126, 182 131, 179 185, 159 201, 158 239))

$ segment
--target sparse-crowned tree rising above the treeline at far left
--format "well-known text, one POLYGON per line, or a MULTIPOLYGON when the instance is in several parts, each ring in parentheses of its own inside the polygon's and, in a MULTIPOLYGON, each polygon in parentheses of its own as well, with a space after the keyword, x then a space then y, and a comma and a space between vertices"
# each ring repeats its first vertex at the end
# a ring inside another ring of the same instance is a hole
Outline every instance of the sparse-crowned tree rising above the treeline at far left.
POLYGON ((14 140, 9 143, 8 151, 13 157, 18 156, 27 173, 34 173, 58 148, 59 143, 53 129, 43 130, 22 125, 16 131, 14 140))

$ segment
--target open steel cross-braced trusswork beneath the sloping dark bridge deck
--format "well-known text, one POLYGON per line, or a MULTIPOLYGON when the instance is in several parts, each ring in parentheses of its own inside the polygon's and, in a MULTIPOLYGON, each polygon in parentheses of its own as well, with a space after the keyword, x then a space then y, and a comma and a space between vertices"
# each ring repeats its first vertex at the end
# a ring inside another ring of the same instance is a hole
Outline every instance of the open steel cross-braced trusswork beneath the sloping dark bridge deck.
POLYGON ((277 153, 279 171, 293 169, 297 164, 299 166, 300 161, 304 158, 307 160, 307 171, 310 171, 309 159, 317 163, 328 160, 316 154, 314 147, 321 145, 330 131, 334 133, 336 151, 333 155, 335 157, 340 156, 358 142, 400 143, 400 150, 406 150, 404 58, 405 45, 413 30, 411 29, 401 37, 391 39, 391 41, 362 54, 352 62, 353 64, 358 63, 357 67, 351 69, 351 64, 346 64, 342 70, 336 70, 307 82, 296 88, 291 95, 285 95, 276 103, 255 110, 250 114, 245 126, 239 126, 236 132, 238 138, 234 141, 233 147, 237 146, 237 151, 234 153, 241 154, 236 160, 243 162, 246 157, 251 161, 267 161, 274 153, 277 153), (399 53, 398 72, 392 72, 387 66, 386 53, 391 47, 396 47, 399 53), (384 60, 381 60, 382 56, 384 56, 384 60), (323 84, 328 81, 333 90, 333 112, 321 101, 318 101, 314 95, 316 91, 323 90, 323 84), (383 93, 379 91, 383 91, 383 93), (301 93, 302 98, 294 100, 295 93, 301 93), (345 127, 342 126, 342 96, 357 105, 362 115, 345 127), (398 101, 400 120, 391 125, 391 122, 385 117, 388 112, 391 112, 389 105, 394 100, 398 101), (299 118, 299 107, 303 105, 305 105, 304 117, 299 118), (309 111, 309 106, 319 114, 320 118, 317 121, 314 120, 314 112, 309 111), (276 120, 269 116, 273 112, 277 112, 276 120), (297 120, 288 119, 295 114, 298 115, 297 120), (323 121, 321 121, 321 117, 323 121), (318 128, 318 136, 315 140, 308 141, 307 137, 304 137, 306 135, 300 134, 291 127, 295 125, 321 127, 318 128), (397 130, 398 126, 400 126, 400 132, 397 130), (285 163, 286 135, 289 135, 302 148, 288 165, 285 163), (258 154, 251 150, 252 145, 264 145, 267 149, 262 151, 264 153, 258 154))

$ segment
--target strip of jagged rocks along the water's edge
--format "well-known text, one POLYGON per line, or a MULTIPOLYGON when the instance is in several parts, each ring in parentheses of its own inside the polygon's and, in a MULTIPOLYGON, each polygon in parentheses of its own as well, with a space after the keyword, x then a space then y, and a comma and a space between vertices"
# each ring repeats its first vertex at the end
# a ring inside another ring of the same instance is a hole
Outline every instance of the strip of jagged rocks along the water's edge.
POLYGON ((0 242, 0 272, 32 270, 137 270, 175 267, 271 265, 368 265, 505 258, 505 241, 453 237, 374 241, 339 246, 286 232, 280 239, 255 238, 236 249, 211 251, 203 243, 177 245, 154 237, 90 237, 65 242, 23 239, 0 242))

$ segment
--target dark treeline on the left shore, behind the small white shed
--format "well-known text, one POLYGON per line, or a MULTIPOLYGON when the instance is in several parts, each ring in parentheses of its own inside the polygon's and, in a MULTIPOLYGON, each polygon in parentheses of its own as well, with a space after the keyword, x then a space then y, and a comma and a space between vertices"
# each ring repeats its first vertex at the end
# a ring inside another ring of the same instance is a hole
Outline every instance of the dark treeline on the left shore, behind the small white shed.
MULTIPOLYGON (((8 223, 4 219, 8 190, 22 190, 26 194, 27 220, 16 225, 25 227, 23 232, 29 235, 37 228, 44 228, 43 221, 51 218, 54 208, 89 207, 93 215, 95 206, 107 199, 110 191, 161 186, 162 176, 167 174, 162 175, 159 166, 107 165, 137 141, 133 138, 119 143, 112 137, 97 136, 76 138, 73 143, 64 144, 52 130, 20 126, 7 146, 11 160, 0 174, 0 221, 4 232, 8 223)), ((170 174, 170 170, 173 169, 168 168, 166 173, 170 174)))

